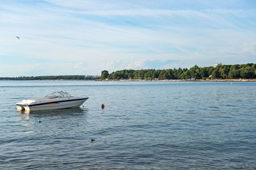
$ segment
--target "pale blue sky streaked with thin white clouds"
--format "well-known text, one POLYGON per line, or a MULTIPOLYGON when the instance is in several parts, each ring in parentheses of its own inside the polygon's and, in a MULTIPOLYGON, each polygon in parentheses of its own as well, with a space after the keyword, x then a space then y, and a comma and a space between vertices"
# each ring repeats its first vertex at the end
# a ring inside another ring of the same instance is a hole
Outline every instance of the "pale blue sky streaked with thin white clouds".
POLYGON ((255 60, 255 0, 0 0, 0 77, 255 60))

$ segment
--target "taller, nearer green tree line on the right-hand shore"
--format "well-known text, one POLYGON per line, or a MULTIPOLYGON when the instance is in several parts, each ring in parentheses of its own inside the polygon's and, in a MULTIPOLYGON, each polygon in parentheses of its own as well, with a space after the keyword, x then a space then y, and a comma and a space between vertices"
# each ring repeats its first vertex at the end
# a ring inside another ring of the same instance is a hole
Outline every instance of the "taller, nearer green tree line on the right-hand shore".
POLYGON ((196 80, 206 79, 238 79, 256 78, 256 64, 234 64, 191 68, 173 69, 123 69, 108 73, 104 70, 101 79, 105 80, 186 80, 195 78, 196 80))

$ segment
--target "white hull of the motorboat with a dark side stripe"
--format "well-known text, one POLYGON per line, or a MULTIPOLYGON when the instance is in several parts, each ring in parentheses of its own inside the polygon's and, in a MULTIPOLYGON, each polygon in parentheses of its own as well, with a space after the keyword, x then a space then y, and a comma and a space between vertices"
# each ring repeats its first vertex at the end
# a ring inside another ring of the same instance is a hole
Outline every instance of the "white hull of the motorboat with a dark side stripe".
POLYGON ((52 101, 51 103, 42 104, 21 104, 17 103, 17 110, 24 111, 38 111, 38 110, 58 110, 65 108, 76 108, 81 106, 88 98, 66 100, 66 101, 52 101))

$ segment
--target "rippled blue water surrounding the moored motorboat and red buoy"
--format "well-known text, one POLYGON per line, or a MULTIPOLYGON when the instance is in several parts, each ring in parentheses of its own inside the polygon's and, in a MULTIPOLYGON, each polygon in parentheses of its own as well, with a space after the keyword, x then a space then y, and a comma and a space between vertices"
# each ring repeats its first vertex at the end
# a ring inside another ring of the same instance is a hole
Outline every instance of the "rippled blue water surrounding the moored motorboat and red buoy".
POLYGON ((255 169, 255 94, 256 82, 0 81, 0 169, 255 169), (16 110, 55 90, 90 99, 16 110))

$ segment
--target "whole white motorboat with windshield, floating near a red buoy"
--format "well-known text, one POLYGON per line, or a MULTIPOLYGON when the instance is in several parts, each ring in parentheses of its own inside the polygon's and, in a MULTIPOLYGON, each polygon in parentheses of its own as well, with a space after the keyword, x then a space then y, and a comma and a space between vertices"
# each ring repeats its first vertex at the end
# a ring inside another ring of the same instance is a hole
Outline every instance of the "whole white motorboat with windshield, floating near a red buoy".
POLYGON ((16 103, 17 110, 57 110, 63 108, 76 108, 81 106, 89 97, 74 97, 67 92, 57 91, 45 97, 25 99, 16 103))

